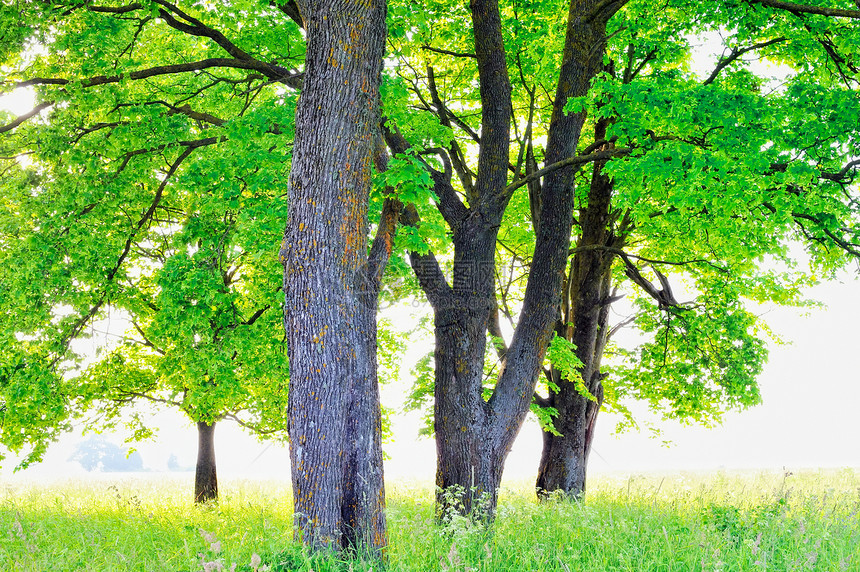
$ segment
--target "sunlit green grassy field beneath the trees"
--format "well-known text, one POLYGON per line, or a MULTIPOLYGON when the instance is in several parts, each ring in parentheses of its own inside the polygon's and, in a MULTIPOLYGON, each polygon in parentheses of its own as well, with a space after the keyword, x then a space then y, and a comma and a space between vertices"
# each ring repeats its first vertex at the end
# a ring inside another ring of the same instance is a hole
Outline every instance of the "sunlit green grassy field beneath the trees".
MULTIPOLYGON (((584 503, 501 491, 487 530, 440 527, 429 486, 389 483, 387 570, 860 571, 860 472, 597 477, 584 503)), ((0 570, 379 570, 291 541, 289 490, 225 482, 216 506, 151 480, 0 483, 0 570)))

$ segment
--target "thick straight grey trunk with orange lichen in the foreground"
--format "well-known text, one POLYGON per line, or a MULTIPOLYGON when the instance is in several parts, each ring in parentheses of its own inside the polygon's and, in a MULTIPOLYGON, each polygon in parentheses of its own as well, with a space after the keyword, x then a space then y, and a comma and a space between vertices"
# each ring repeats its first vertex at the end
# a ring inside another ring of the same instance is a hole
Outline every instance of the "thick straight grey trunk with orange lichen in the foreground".
POLYGON ((296 534, 376 552, 386 531, 367 204, 386 5, 299 7, 307 56, 281 249, 296 534))

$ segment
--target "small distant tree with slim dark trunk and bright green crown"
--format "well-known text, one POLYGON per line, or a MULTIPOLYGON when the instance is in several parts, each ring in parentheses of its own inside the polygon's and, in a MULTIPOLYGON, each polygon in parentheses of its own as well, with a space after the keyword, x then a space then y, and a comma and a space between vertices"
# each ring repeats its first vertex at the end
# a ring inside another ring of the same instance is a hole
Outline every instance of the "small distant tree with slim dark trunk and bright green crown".
POLYGON ((287 356, 280 288, 272 280, 277 260, 266 251, 278 233, 261 222, 278 201, 259 193, 241 197, 235 212, 228 207, 219 216, 222 200, 199 193, 185 208, 174 203, 173 212, 187 217, 173 223, 178 232, 161 231, 138 246, 129 267, 147 271, 113 301, 131 329, 74 379, 73 404, 87 425, 130 421, 133 436, 144 438, 142 417, 127 416, 140 400, 178 409, 194 422, 198 502, 218 496, 216 423, 232 420, 261 438, 287 437, 287 356))

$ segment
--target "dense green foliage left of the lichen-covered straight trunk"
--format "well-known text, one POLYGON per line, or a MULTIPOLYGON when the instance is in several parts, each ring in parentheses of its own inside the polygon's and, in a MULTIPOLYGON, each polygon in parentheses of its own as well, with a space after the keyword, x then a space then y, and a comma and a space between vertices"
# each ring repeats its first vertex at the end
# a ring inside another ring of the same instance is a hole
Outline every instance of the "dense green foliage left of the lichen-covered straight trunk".
MULTIPOLYGON (((4 12, 4 89, 43 110, 0 139, 0 430, 22 466, 80 415, 148 436, 137 399, 285 433, 276 245, 297 92, 238 47, 213 59, 221 47, 175 29, 203 24, 160 5, 4 12), (93 356, 75 340, 106 317, 128 331, 93 356)), ((251 7, 206 16, 300 63, 295 24, 251 7)))

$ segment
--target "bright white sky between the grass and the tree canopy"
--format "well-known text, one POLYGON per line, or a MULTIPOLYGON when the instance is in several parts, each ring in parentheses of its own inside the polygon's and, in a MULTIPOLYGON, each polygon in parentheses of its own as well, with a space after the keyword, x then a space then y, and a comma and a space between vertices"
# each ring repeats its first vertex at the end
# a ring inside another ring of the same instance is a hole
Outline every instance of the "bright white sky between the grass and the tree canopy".
MULTIPOLYGON (((616 419, 602 413, 589 474, 860 468, 860 415, 856 414, 860 369, 856 335, 852 335, 852 326, 860 324, 860 281, 853 276, 844 272, 842 282, 825 282, 809 290, 808 297, 826 303, 827 308, 777 307, 767 313, 768 325, 786 345, 770 344, 770 359, 759 377, 761 405, 731 412, 722 426, 712 429, 656 422, 663 429, 657 438, 645 426, 615 435, 616 419), (671 444, 664 445, 664 440, 671 444)), ((412 362, 432 349, 429 340, 419 342, 422 345, 407 350, 402 369, 405 379, 382 390, 383 404, 397 412, 394 442, 384 447, 390 457, 385 463, 389 481, 432 482, 435 476, 435 443, 418 438, 420 414, 401 412, 412 362)), ((157 424, 160 431, 156 439, 137 446, 144 466, 152 471, 149 474, 163 475, 170 455, 176 455, 180 465, 193 467, 197 446, 194 425, 176 412, 158 414, 157 424)), ((122 443, 120 434, 105 436, 122 443)), ((14 465, 8 459, 0 475, 6 481, 110 477, 111 473, 87 473, 78 463, 68 461, 77 443, 86 438, 89 435, 65 436, 48 450, 43 463, 18 473, 12 473, 14 465)), ((530 416, 506 462, 503 485, 533 481, 540 451, 540 429, 530 416)), ((260 443, 234 423, 218 425, 216 455, 221 479, 289 481, 286 446, 260 443)), ((193 474, 187 478, 193 482, 193 474)))

